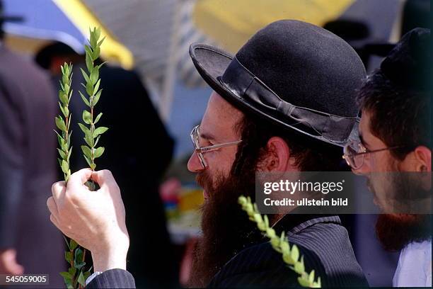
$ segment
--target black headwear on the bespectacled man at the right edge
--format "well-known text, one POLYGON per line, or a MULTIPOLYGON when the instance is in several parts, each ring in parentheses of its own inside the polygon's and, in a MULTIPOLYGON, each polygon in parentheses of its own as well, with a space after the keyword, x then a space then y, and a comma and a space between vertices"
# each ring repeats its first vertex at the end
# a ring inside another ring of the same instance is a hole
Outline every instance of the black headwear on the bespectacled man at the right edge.
POLYGON ((381 71, 396 86, 413 91, 432 89, 432 40, 430 30, 415 28, 391 50, 381 71))

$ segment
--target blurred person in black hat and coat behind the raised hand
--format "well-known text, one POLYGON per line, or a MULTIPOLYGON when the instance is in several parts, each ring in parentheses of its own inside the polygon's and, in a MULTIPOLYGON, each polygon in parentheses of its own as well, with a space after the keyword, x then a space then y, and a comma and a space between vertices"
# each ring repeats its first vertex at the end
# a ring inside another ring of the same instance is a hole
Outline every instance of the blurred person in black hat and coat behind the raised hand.
MULTIPOLYGON (((86 109, 78 93, 80 90, 85 94, 80 84, 85 82, 80 71, 86 70, 85 57, 62 42, 53 42, 37 52, 35 61, 50 72, 56 89, 62 77, 60 65, 74 65, 71 171, 86 167, 80 149, 82 132, 77 124, 82 122, 86 109)), ((173 139, 136 72, 105 64, 100 69, 100 79, 103 93, 96 110, 103 113, 100 125, 109 130, 101 140, 105 152, 98 159, 98 168, 110 169, 122 186, 131 236, 128 269, 137 276, 139 287, 172 287, 178 284, 178 264, 173 257, 158 185, 173 156, 173 139), (139 190, 138 181, 143 184, 139 190)))

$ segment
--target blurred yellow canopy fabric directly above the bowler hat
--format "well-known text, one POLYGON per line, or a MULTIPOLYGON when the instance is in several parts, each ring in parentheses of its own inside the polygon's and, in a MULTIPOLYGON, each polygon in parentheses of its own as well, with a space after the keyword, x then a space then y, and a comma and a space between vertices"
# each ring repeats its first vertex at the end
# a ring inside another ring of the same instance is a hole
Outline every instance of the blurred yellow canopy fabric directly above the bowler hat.
POLYGON ((197 28, 230 52, 236 52, 257 30, 280 19, 323 26, 355 0, 199 0, 193 19, 197 28))

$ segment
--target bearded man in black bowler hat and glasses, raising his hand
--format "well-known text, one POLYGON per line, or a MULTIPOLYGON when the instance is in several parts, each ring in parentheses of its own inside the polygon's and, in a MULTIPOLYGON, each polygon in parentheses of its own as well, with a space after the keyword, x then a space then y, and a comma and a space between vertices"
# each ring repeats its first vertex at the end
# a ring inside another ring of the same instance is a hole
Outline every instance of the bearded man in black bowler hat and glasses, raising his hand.
MULTIPOLYGON (((190 284, 298 286, 297 273, 248 220, 238 197, 255 199, 256 171, 338 170, 342 143, 357 119, 355 89, 364 65, 341 38, 290 20, 259 30, 236 57, 204 44, 191 45, 190 55, 214 89, 191 132, 195 151, 187 164, 205 199, 190 284)), ((88 288, 134 286, 125 271, 129 237, 120 188, 110 171, 83 169, 67 188, 55 183, 47 200, 52 222, 92 251, 96 272, 88 288), (93 195, 83 187, 90 177, 101 186, 93 195), (93 224, 77 220, 76 205, 93 224)), ((296 209, 272 215, 270 224, 299 246, 306 271, 314 269, 323 286, 368 286, 339 217, 296 209)))

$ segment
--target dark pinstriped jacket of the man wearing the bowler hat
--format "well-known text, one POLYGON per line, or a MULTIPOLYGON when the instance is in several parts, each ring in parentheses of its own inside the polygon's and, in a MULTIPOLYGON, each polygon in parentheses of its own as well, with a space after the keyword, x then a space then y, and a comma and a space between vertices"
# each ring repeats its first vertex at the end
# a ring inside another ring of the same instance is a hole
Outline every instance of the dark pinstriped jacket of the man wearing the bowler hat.
MULTIPOLYGON (((275 225, 277 233, 283 229, 289 243, 296 244, 304 255, 306 271, 314 269, 323 287, 368 287, 339 217, 286 215, 275 225)), ((260 242, 236 254, 212 278, 209 287, 300 287, 297 277, 269 242, 260 242)), ((132 275, 120 269, 105 271, 87 286, 133 287, 132 275)))

